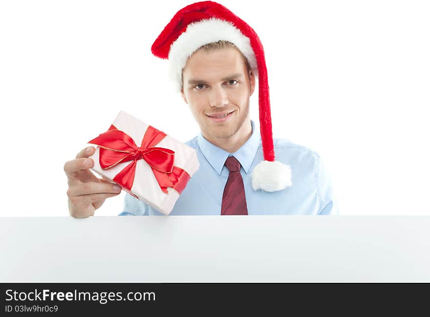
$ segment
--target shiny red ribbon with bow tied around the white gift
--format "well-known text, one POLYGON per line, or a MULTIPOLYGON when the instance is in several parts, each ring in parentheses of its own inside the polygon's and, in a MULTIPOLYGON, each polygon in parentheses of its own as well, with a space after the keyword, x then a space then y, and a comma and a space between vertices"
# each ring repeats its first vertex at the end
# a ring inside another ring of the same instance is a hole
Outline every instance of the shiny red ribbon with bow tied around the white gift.
POLYGON ((166 133, 149 126, 143 136, 141 146, 137 147, 127 133, 111 125, 108 131, 88 143, 100 147, 99 162, 102 169, 109 169, 121 162, 132 161, 113 178, 113 181, 122 187, 131 190, 136 162, 145 160, 151 166, 163 192, 168 193, 167 188, 172 187, 180 194, 190 180, 190 175, 173 165, 174 151, 155 147, 165 137, 166 133))

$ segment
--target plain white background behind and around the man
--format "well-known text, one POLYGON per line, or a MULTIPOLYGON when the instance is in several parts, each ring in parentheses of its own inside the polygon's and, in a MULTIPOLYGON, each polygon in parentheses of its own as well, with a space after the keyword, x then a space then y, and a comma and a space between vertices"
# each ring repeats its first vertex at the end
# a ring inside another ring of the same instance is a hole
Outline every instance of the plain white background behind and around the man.
MULTIPOLYGON (((322 156, 341 214, 430 214, 427 1, 218 2, 258 33, 274 136, 322 156)), ((0 216, 68 216, 64 163, 119 110, 183 142, 197 135, 151 54, 190 3, 0 2, 0 216)), ((124 195, 96 215, 118 214, 124 195)))

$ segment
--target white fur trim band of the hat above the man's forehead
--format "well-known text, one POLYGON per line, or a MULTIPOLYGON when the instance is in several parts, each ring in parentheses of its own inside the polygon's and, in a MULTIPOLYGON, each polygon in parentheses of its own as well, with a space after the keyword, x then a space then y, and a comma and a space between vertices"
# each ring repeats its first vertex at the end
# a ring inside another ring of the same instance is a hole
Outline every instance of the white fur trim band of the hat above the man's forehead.
POLYGON ((232 22, 216 18, 206 19, 190 23, 170 46, 169 62, 170 77, 176 86, 176 91, 181 90, 182 69, 188 58, 202 45, 211 42, 225 40, 232 42, 248 60, 255 76, 258 76, 257 60, 248 37, 242 34, 232 22))

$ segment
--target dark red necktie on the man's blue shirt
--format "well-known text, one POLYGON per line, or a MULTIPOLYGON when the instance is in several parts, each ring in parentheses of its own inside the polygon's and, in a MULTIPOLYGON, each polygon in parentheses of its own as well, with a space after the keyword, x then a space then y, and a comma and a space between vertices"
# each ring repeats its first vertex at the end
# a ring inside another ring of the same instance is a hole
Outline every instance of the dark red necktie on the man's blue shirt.
POLYGON ((221 215, 248 214, 240 163, 236 157, 229 156, 225 160, 225 166, 229 170, 229 178, 222 194, 221 215))

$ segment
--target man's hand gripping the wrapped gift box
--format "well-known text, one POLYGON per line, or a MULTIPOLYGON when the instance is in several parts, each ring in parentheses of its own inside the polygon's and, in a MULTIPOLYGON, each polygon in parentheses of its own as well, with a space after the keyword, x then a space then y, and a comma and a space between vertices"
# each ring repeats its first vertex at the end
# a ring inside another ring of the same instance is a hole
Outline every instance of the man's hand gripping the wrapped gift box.
POLYGON ((95 148, 81 150, 75 160, 64 164, 67 175, 67 189, 69 212, 72 217, 86 218, 94 215, 108 197, 121 192, 121 187, 105 179, 96 177, 89 169, 94 161, 88 156, 94 154, 95 148))

